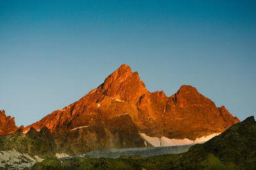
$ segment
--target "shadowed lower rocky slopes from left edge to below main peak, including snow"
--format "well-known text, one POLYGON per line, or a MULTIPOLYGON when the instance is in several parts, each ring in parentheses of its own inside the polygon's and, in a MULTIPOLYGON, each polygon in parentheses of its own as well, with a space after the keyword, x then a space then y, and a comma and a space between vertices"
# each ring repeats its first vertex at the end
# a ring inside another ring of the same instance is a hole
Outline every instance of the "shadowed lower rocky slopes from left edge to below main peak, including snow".
MULTIPOLYGON (((148 144, 149 145, 149 144, 148 144)), ((47 158, 79 155, 93 150, 145 147, 129 115, 109 119, 90 127, 51 133, 47 127, 33 127, 24 134, 0 136, 0 167, 23 169, 47 158), (116 130, 117 129, 117 130, 116 130)))

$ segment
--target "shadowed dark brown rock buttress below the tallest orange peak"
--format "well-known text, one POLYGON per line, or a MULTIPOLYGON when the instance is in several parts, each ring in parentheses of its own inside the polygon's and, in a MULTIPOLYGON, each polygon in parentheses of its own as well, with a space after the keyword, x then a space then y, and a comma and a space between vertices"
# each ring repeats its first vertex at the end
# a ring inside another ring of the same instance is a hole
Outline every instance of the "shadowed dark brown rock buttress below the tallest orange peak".
POLYGON ((65 152, 68 155, 102 149, 145 146, 129 115, 121 115, 71 131, 63 127, 54 131, 52 135, 58 146, 58 152, 65 152))

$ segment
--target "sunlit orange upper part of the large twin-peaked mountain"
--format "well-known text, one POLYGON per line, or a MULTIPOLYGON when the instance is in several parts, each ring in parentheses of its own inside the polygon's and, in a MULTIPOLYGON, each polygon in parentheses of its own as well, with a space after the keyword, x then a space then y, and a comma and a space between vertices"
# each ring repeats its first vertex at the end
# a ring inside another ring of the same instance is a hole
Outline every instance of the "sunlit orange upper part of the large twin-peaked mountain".
MULTIPOLYGON (((76 103, 47 115, 33 126, 48 127, 52 132, 104 122, 129 114, 138 131, 149 136, 195 139, 223 132, 239 122, 224 108, 217 108, 195 87, 182 85, 176 94, 150 93, 131 67, 122 65, 104 83, 76 103)), ((25 130, 26 130, 25 129, 25 130)))

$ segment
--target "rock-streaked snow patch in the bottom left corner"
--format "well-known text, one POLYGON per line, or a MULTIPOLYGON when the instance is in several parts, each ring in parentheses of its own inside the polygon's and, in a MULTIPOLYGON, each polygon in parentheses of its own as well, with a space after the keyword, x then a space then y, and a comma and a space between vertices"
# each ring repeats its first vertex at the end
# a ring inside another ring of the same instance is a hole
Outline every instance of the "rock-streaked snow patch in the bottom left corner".
POLYGON ((42 162, 38 155, 31 156, 28 153, 20 153, 15 149, 0 151, 0 167, 9 166, 10 169, 24 169, 32 167, 36 162, 42 162))

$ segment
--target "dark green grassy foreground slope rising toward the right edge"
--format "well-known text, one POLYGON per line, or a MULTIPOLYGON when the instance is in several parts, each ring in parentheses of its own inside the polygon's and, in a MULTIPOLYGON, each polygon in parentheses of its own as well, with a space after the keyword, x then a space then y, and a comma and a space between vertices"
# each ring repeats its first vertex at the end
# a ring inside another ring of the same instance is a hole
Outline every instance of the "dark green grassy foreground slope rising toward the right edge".
POLYGON ((186 153, 118 159, 46 159, 32 169, 256 169, 256 122, 248 117, 186 153))

